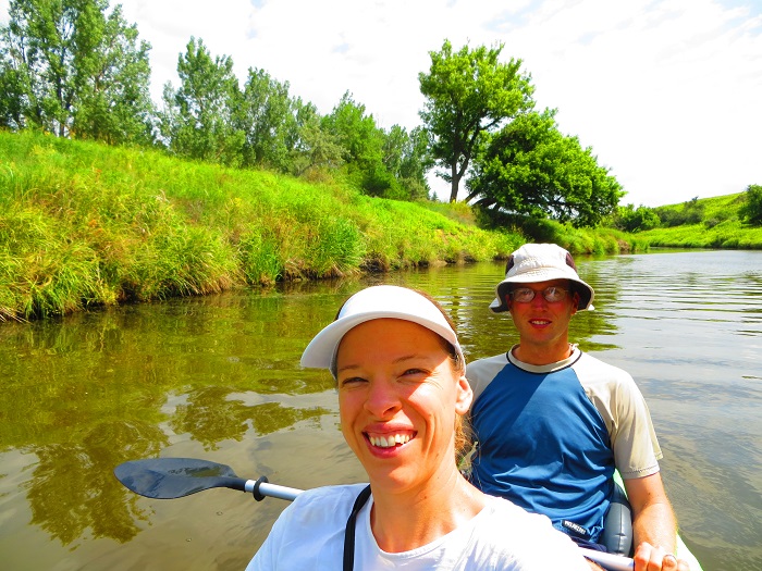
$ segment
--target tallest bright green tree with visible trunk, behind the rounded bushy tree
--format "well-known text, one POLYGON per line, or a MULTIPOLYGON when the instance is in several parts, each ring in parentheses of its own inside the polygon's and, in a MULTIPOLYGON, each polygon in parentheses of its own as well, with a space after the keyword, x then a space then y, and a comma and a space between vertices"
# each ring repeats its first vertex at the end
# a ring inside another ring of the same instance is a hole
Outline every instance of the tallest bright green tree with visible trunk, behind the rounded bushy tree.
POLYGON ((432 139, 433 159, 448 170, 438 176, 451 183, 451 202, 457 200, 460 179, 484 135, 533 107, 521 60, 501 63, 502 50, 502 44, 489 50, 465 46, 453 53, 445 40, 441 51, 430 52, 429 73, 418 75, 427 99, 419 115, 432 139))

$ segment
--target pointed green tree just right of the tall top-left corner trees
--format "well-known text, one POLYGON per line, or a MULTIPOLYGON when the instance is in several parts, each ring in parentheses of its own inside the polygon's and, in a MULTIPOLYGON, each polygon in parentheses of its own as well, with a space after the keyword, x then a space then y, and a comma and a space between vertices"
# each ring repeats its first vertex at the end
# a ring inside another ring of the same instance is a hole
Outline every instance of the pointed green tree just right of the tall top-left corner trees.
POLYGON ((190 159, 237 165, 245 134, 236 128, 234 109, 241 90, 233 60, 212 60, 204 40, 192 37, 177 58, 180 87, 164 86, 159 128, 171 152, 190 159))

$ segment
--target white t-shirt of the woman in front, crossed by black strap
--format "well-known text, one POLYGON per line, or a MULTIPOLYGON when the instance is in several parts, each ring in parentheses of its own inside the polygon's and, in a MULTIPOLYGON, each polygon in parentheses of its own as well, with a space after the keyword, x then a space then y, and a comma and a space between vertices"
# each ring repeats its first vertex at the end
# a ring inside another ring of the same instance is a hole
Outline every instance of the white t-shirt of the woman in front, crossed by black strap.
MULTIPOLYGON (((281 513, 246 571, 340 571, 344 531, 366 484, 328 486, 300 494, 281 513)), ((410 551, 381 550, 370 529, 372 496, 357 516, 355 570, 589 571, 579 548, 544 516, 511 501, 490 501, 467 524, 410 551)))

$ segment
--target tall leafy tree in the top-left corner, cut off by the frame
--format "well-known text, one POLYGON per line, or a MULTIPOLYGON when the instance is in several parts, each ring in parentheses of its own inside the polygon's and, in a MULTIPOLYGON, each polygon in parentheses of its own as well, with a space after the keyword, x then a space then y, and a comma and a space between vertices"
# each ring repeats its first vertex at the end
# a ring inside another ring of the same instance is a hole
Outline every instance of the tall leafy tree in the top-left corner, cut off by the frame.
POLYGON ((11 0, 0 27, 0 124, 150 141, 150 46, 108 0, 11 0))

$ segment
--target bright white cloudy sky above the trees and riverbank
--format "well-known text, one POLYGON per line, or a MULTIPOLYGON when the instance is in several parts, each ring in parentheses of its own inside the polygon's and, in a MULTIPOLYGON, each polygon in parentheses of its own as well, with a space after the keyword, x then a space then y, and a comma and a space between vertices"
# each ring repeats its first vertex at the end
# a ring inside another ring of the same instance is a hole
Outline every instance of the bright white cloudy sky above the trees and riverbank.
MULTIPOLYGON (((115 4, 116 2, 111 2, 115 4)), ((656 207, 762 185, 762 0, 123 0, 151 45, 151 94, 179 85, 190 37, 330 113, 352 94, 377 125, 420 125, 418 74, 445 39, 503 45, 537 109, 656 207)), ((0 0, 0 21, 9 0, 0 0)), ((448 185, 429 178, 446 199, 448 185)), ((459 198, 465 197, 460 189, 459 198)))

